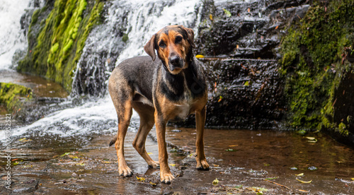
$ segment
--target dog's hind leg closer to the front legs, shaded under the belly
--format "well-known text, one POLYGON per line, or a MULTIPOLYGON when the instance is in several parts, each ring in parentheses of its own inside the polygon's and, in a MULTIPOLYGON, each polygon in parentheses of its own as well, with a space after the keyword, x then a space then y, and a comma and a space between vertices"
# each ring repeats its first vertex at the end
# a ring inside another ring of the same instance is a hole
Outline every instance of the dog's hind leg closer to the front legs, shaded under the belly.
POLYGON ((139 153, 139 155, 147 161, 147 165, 149 167, 157 167, 159 162, 152 160, 152 158, 147 154, 147 150, 145 149, 145 141, 147 139, 147 134, 154 126, 154 108, 148 105, 144 105, 142 102, 133 102, 133 108, 140 117, 140 126, 137 132, 137 136, 132 143, 135 150, 139 153))

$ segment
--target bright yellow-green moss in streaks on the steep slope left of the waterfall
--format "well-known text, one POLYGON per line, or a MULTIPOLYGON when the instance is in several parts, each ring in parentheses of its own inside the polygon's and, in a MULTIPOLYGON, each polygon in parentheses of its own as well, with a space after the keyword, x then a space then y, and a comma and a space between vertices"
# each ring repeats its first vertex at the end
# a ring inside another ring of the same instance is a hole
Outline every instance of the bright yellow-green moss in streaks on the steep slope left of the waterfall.
MULTIPOLYGON (((18 71, 45 76, 71 91, 76 63, 89 32, 101 22, 102 9, 100 1, 90 5, 86 0, 55 1, 38 34, 37 44, 28 48, 28 55, 19 63, 18 71)), ((35 22, 32 20, 31 25, 35 22)))

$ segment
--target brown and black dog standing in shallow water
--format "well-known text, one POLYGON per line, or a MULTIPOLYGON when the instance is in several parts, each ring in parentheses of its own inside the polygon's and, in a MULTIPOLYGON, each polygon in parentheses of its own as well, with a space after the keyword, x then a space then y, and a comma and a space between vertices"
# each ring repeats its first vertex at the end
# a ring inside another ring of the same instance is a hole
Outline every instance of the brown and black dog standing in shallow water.
POLYGON ((132 175, 124 158, 124 138, 132 108, 140 117, 139 130, 132 144, 149 167, 160 166, 161 182, 170 183, 174 178, 167 162, 166 124, 169 120, 185 119, 188 114, 195 113, 197 168, 209 169, 203 141, 207 86, 202 68, 193 57, 193 48, 193 30, 183 25, 170 25, 159 30, 144 46, 150 57, 126 59, 112 72, 108 90, 118 114, 118 133, 110 146, 115 143, 120 175, 132 175), (159 162, 152 160, 145 150, 147 134, 154 124, 159 162))

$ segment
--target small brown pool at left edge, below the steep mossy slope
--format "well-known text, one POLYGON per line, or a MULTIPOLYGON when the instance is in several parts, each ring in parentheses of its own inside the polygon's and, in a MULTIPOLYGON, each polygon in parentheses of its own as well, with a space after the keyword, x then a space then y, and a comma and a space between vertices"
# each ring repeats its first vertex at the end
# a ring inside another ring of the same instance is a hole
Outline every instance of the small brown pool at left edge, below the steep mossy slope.
POLYGON ((12 70, 0 70, 0 82, 15 83, 32 88, 33 93, 38 97, 66 98, 69 95, 69 93, 62 88, 62 85, 58 83, 49 81, 40 76, 30 76, 12 70))

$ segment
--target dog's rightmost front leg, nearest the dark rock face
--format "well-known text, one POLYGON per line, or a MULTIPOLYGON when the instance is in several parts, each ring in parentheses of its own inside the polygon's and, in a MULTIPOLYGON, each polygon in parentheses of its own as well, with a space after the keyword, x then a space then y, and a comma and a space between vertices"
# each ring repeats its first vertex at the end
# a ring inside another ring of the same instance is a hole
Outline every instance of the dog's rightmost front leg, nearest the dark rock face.
POLYGON ((197 169, 209 170, 207 159, 204 153, 204 126, 205 126, 206 107, 195 112, 195 126, 197 127, 197 140, 195 141, 197 157, 197 169))

